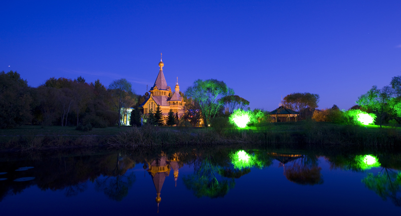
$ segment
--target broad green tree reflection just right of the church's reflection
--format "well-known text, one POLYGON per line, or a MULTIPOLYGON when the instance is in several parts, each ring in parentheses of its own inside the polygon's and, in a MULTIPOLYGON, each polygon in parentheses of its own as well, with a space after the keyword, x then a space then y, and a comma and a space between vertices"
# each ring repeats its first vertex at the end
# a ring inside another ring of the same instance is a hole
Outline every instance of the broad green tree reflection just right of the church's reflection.
POLYGON ((234 187, 235 182, 230 180, 218 180, 219 167, 212 165, 211 159, 195 162, 194 174, 184 176, 183 182, 188 189, 193 190, 196 197, 209 196, 211 198, 224 197, 234 187))

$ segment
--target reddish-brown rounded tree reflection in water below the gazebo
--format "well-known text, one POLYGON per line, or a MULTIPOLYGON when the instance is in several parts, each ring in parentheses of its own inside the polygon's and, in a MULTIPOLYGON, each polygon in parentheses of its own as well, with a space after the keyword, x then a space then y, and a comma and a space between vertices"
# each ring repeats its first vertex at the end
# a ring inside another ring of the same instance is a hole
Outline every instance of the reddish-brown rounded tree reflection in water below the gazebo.
POLYGON ((284 170, 286 178, 292 182, 302 185, 322 184, 323 178, 318 167, 317 157, 305 155, 294 160, 293 164, 284 170))

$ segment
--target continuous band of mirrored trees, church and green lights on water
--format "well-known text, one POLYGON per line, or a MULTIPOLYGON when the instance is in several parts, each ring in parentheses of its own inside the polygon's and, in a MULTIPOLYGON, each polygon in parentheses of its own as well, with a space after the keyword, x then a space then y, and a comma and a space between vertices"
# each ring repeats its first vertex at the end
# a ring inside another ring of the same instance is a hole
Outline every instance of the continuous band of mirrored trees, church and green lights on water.
POLYGON ((41 160, 4 161, 0 162, 0 178, 4 179, 0 181, 0 201, 7 196, 22 193, 33 185, 41 190, 62 190, 65 196, 73 197, 87 191, 92 184, 95 191, 103 193, 109 199, 122 201, 135 184, 136 176, 133 168, 136 164, 141 164, 140 166, 143 164, 145 175, 147 178, 150 176, 153 181, 158 208, 166 178, 173 178, 177 186, 179 177, 185 188, 195 197, 222 198, 228 196, 228 193, 236 186, 236 181, 238 182, 242 176, 252 176, 251 172, 270 169, 269 167, 273 164, 282 168, 284 181, 295 183, 293 185, 323 184, 320 163, 328 163, 332 171, 340 169, 365 173, 360 184, 374 191, 383 200, 389 199, 394 205, 401 206, 401 172, 397 171, 401 168, 401 157, 398 155, 322 156, 300 151, 280 152, 263 149, 220 149, 218 151, 192 149, 160 151, 157 154, 117 152, 41 160), (183 166, 193 168, 193 172, 186 172, 179 176, 178 171, 183 166), (382 169, 377 172, 378 169, 374 169, 375 167, 382 169), (172 176, 169 177, 171 170, 172 176), (18 179, 24 181, 18 181, 18 179))

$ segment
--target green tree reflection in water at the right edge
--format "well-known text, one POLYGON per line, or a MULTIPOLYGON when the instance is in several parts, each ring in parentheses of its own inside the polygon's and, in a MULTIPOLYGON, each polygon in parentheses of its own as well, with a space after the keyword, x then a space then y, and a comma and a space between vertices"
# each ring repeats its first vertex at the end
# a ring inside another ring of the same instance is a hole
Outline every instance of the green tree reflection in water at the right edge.
POLYGON ((389 198, 396 206, 401 206, 401 172, 382 168, 377 175, 367 173, 362 182, 383 200, 389 198))

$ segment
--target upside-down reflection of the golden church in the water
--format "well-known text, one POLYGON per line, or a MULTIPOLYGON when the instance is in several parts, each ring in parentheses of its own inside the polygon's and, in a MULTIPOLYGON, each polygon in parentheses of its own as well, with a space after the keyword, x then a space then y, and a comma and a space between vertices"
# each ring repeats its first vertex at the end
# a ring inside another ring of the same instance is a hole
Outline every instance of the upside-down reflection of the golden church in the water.
MULTIPOLYGON (((177 186, 177 178, 178 178, 178 156, 174 154, 171 160, 168 160, 166 156, 161 156, 159 159, 153 160, 151 163, 148 163, 148 173, 151 175, 154 187, 156 189, 156 202, 157 202, 157 212, 159 211, 159 203, 161 201, 160 192, 161 187, 163 186, 164 179, 170 174, 170 170, 172 168, 175 186, 177 186)), ((146 168, 146 165, 144 165, 146 168)))

